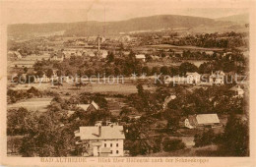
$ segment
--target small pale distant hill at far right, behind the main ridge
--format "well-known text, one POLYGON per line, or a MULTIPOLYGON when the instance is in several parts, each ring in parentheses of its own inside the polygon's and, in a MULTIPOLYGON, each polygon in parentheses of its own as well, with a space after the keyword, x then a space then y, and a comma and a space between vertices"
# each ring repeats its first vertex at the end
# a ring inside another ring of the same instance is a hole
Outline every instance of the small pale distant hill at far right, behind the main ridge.
POLYGON ((216 21, 232 22, 237 24, 249 24, 249 14, 233 15, 229 17, 219 18, 216 21))

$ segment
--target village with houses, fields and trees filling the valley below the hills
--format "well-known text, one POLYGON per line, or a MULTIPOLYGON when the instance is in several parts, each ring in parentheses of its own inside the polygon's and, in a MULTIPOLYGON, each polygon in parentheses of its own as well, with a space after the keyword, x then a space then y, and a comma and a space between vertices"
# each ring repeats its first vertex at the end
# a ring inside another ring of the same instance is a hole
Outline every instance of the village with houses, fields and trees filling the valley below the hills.
POLYGON ((246 154, 247 35, 9 36, 8 155, 246 154))

